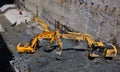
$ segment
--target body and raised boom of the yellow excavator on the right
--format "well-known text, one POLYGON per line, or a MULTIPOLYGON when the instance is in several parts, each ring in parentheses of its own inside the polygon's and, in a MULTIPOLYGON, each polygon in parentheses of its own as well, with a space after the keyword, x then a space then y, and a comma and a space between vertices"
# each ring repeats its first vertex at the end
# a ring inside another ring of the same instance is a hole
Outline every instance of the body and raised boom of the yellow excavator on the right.
POLYGON ((95 41, 89 34, 68 32, 67 34, 62 34, 62 38, 87 41, 88 57, 90 59, 95 57, 113 58, 117 56, 117 48, 113 44, 95 41))

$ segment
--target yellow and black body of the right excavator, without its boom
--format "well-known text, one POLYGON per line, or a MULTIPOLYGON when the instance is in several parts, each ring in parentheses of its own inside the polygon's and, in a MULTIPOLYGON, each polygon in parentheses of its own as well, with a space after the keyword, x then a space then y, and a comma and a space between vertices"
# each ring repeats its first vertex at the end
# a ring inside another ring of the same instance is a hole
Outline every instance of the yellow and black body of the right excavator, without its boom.
POLYGON ((96 42, 92 45, 89 57, 113 58, 117 55, 117 49, 111 43, 96 42))

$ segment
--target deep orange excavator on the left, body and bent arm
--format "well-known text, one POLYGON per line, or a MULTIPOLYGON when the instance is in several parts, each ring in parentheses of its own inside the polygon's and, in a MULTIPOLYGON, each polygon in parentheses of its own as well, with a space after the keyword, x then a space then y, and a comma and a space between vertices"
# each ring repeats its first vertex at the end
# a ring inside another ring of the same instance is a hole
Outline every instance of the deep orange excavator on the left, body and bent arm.
MULTIPOLYGON (((26 53, 34 53, 36 51, 36 44, 37 41, 39 39, 51 39, 50 40, 50 44, 53 43, 54 41, 57 41, 57 35, 56 35, 56 31, 54 32, 42 32, 37 34, 31 43, 25 43, 24 45, 21 45, 21 43, 19 43, 17 45, 17 51, 20 53, 26 52, 26 53)), ((62 42, 60 39, 58 39, 57 44, 62 46, 62 42)))

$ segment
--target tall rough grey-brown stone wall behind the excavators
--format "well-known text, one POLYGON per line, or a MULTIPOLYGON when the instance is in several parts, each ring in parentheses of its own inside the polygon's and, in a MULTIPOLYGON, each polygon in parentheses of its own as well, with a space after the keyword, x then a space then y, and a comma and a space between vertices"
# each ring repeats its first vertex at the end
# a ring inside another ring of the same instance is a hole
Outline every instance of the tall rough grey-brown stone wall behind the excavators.
POLYGON ((43 18, 49 26, 55 20, 71 29, 89 33, 94 39, 120 47, 119 0, 23 0, 21 5, 43 18))

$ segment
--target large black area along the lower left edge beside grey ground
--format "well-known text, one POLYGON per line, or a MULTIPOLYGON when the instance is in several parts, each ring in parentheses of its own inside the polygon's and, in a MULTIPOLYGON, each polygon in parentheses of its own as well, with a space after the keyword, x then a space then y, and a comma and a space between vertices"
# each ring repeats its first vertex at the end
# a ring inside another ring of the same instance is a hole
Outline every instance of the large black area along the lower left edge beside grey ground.
POLYGON ((9 63, 12 59, 13 55, 0 34, 0 72, 13 72, 9 63))

